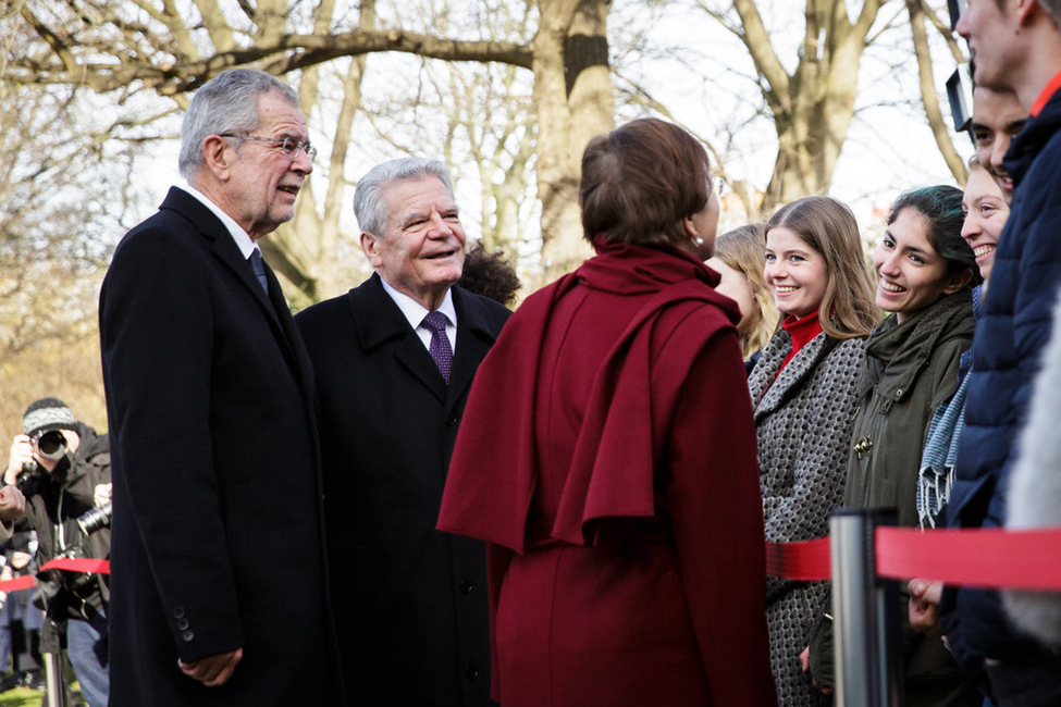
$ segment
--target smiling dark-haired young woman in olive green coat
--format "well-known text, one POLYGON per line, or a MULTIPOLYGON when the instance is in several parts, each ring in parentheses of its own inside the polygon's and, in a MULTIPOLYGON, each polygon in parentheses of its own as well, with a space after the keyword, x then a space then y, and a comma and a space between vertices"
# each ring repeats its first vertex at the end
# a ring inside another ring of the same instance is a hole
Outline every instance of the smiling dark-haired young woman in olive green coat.
MULTIPOLYGON (((935 186, 896 200, 874 256, 877 306, 891 312, 866 342, 848 457, 843 505, 893 508, 900 526, 916 528, 922 451, 936 409, 954 393, 962 354, 972 343, 972 287, 980 275, 961 236, 962 191, 935 186)), ((903 585, 902 588, 905 588, 903 585)), ((903 594, 900 615, 908 618, 903 594)), ((829 675, 829 619, 811 642, 812 674, 829 675)), ((972 687, 941 638, 914 632, 904 620, 903 673, 908 707, 973 707, 972 687)))

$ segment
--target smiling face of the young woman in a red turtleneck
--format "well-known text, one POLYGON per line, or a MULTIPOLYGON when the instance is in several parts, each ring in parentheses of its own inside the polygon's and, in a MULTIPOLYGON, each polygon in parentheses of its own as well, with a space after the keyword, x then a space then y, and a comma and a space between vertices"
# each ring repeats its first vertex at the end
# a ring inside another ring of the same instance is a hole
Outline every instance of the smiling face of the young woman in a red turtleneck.
POLYGON ((825 257, 786 226, 766 232, 766 283, 785 314, 806 317, 822 306, 829 284, 825 257))

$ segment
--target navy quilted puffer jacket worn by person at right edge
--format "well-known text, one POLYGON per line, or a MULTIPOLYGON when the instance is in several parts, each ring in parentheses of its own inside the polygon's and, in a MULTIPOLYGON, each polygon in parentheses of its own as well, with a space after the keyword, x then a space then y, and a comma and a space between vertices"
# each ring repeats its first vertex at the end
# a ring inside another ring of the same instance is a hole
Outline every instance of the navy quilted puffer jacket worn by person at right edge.
MULTIPOLYGON (((1004 524, 1017 433, 1061 284, 1061 91, 1027 122, 1004 163, 1015 197, 973 339, 965 431, 946 508, 951 526, 1004 524)), ((948 587, 940 615, 966 670, 978 669, 984 658, 1026 659, 1041 649, 1013 630, 997 592, 948 587)))

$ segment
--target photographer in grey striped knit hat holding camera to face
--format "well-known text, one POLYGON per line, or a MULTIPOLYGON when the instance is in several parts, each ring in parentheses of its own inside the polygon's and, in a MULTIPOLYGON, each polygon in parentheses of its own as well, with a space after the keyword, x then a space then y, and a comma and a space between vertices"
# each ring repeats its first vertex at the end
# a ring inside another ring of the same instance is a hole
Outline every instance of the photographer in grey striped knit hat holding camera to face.
MULTIPOLYGON (((42 398, 23 417, 25 434, 11 445, 4 472, 26 497, 26 523, 37 533, 38 568, 55 557, 110 556, 110 446, 107 435, 77 422, 62 400, 42 398)), ((38 574, 34 601, 45 611, 42 653, 66 654, 91 707, 108 695, 107 605, 102 574, 48 571, 38 574)))

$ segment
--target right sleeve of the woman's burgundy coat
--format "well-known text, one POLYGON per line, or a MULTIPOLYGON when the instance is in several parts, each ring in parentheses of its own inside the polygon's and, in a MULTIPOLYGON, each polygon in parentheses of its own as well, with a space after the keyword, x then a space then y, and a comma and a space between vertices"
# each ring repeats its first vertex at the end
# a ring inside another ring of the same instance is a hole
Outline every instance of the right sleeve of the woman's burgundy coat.
MULTIPOLYGON (((702 325, 683 323, 676 336, 702 325)), ((654 375, 668 368, 659 361, 654 375)), ((689 370, 667 451, 667 503, 711 702, 776 705, 755 424, 732 328, 718 330, 689 370)))

